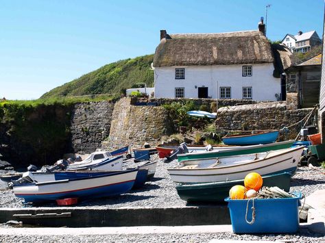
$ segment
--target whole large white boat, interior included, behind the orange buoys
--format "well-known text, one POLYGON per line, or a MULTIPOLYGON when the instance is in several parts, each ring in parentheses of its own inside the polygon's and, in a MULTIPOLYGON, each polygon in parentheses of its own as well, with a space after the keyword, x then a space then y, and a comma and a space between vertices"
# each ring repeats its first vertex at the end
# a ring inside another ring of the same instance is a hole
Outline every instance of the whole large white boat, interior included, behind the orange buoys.
POLYGON ((294 172, 304 146, 250 155, 235 155, 215 159, 191 159, 168 169, 174 182, 204 183, 243 179, 249 172, 269 175, 294 172))

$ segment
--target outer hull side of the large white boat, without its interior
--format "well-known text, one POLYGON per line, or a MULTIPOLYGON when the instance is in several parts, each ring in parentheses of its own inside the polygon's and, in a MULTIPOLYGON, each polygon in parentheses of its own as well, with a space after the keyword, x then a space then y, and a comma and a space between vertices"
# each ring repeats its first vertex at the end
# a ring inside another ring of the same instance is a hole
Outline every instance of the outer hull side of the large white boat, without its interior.
POLYGON ((269 175, 276 172, 295 172, 303 146, 285 151, 274 151, 265 159, 232 165, 213 166, 208 168, 173 168, 168 169, 171 180, 177 183, 205 183, 243 179, 249 172, 269 175))

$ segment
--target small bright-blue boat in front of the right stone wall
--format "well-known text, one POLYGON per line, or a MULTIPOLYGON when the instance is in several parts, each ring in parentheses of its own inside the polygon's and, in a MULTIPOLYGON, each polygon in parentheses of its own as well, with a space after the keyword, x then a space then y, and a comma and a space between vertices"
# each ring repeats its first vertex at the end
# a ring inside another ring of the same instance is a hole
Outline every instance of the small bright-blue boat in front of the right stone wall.
POLYGON ((279 131, 261 131, 248 135, 225 136, 222 141, 226 145, 270 144, 275 142, 278 136, 279 131))

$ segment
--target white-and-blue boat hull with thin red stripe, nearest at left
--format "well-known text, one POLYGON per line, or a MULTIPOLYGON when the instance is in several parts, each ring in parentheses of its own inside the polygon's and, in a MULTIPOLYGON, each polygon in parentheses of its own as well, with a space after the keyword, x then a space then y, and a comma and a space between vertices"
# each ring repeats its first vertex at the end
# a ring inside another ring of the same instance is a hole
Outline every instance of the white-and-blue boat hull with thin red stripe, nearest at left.
POLYGON ((131 190, 137 172, 137 169, 125 170, 90 178, 22 184, 21 186, 14 186, 13 190, 15 196, 25 199, 25 202, 32 203, 73 197, 80 199, 91 197, 93 199, 114 196, 131 190))

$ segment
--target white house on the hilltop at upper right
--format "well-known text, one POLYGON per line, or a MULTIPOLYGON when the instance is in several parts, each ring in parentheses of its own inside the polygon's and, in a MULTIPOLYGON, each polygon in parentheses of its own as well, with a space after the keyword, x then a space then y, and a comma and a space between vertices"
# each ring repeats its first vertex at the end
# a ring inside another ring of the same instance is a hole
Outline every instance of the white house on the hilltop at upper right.
POLYGON ((286 34, 285 38, 281 41, 282 44, 285 44, 291 52, 302 52, 305 53, 322 44, 320 36, 317 35, 315 30, 302 33, 298 31, 296 36, 291 34, 286 34))

